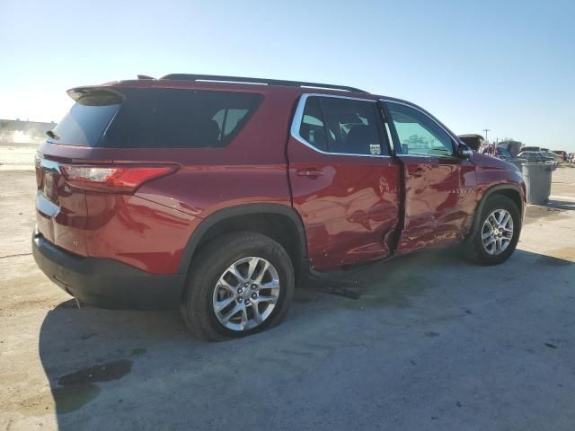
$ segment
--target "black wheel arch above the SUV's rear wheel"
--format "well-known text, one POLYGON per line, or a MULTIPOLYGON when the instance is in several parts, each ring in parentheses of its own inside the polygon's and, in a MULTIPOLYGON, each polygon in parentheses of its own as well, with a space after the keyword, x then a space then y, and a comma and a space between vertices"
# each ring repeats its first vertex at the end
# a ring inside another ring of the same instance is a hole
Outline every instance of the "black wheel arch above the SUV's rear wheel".
POLYGON ((179 272, 187 273, 199 249, 217 236, 238 230, 270 236, 288 251, 297 271, 307 258, 304 224, 296 210, 282 204, 246 204, 226 207, 207 216, 191 234, 179 272))

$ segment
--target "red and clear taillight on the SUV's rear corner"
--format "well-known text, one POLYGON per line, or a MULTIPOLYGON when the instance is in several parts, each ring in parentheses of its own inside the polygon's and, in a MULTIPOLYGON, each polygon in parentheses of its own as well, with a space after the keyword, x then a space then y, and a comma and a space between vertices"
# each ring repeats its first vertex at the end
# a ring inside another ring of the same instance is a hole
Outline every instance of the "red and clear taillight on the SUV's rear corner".
POLYGON ((60 164, 64 178, 71 186, 111 193, 128 193, 144 182, 176 172, 176 165, 80 165, 60 164))

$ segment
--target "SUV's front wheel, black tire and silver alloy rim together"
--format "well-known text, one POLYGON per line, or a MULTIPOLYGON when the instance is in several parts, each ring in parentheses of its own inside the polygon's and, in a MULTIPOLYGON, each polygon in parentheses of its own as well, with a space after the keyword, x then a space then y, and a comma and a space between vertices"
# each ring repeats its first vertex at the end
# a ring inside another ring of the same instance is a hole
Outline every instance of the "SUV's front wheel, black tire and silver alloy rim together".
POLYGON ((497 265, 509 259, 519 241, 521 216, 515 203, 501 195, 485 202, 479 224, 465 243, 468 254, 482 265, 497 265))

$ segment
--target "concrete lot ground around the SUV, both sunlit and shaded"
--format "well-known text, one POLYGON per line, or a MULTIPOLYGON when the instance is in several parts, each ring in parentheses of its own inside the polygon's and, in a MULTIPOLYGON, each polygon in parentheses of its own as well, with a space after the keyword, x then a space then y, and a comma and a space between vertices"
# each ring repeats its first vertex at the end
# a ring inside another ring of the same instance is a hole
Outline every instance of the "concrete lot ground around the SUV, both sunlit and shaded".
POLYGON ((77 309, 30 254, 33 172, 3 166, 0 427, 571 431, 575 169, 553 180, 501 266, 394 259, 357 301, 300 290, 276 329, 208 344, 177 311, 77 309))

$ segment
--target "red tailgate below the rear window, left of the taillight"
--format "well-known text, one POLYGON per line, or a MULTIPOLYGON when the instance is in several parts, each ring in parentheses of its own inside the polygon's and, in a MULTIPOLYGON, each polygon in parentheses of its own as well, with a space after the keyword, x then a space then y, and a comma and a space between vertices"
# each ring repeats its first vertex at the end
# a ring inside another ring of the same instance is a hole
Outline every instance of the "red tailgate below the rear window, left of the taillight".
POLYGON ((72 189, 57 162, 36 157, 36 219, 38 232, 53 244, 86 256, 86 198, 83 190, 72 189))

